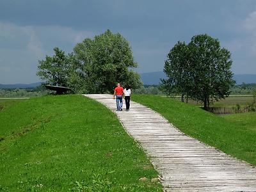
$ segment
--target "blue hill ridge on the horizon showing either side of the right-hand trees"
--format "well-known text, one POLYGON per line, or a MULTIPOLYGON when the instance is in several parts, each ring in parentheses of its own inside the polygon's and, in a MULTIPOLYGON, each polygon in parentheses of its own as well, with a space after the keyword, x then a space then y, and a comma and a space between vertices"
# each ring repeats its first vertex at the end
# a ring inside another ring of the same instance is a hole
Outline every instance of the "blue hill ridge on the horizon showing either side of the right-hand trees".
MULTIPOLYGON (((159 84, 160 78, 166 79, 164 72, 149 72, 140 74, 144 84, 159 84)), ((256 74, 234 75, 236 84, 256 83, 256 74)))

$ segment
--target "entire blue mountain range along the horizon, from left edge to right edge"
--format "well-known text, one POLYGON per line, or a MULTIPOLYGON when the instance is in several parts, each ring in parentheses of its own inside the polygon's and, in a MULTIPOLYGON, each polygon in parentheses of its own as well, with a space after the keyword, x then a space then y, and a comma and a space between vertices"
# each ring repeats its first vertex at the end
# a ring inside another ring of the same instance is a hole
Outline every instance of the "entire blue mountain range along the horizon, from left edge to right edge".
MULTIPOLYGON (((141 80, 143 84, 159 84, 160 79, 166 79, 166 75, 164 72, 148 72, 148 73, 141 73, 141 80)), ((236 81, 236 84, 243 84, 243 83, 256 83, 256 74, 236 74, 234 75, 233 79, 236 81)), ((40 86, 41 82, 37 83, 29 83, 29 84, 1 84, 0 88, 35 88, 36 86, 40 86)))

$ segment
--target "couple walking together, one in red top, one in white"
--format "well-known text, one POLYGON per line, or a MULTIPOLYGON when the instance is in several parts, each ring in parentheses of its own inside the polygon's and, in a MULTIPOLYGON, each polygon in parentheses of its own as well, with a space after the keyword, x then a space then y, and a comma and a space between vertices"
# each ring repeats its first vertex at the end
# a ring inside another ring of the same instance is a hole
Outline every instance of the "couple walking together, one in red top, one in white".
POLYGON ((122 88, 120 86, 120 83, 117 84, 115 91, 114 91, 114 96, 113 99, 115 99, 116 95, 116 111, 122 111, 123 109, 123 95, 125 99, 125 106, 126 106, 126 111, 130 110, 130 100, 131 100, 131 88, 129 85, 126 86, 126 88, 122 88))

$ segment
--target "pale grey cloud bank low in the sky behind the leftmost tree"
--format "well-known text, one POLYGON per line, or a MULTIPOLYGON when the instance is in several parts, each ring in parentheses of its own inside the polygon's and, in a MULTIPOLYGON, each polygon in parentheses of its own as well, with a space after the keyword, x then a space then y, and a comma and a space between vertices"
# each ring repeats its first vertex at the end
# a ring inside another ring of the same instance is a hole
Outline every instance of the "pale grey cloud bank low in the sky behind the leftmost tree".
POLYGON ((61 26, 18 26, 0 22, 0 83, 31 83, 36 76, 38 60, 52 55, 54 47, 71 52, 88 31, 61 26))

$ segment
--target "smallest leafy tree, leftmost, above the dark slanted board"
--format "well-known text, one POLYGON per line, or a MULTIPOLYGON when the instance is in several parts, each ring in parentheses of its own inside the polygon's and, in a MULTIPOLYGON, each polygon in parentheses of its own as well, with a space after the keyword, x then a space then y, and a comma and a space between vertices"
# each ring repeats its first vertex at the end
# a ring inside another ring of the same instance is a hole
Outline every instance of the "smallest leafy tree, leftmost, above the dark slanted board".
POLYGON ((44 84, 67 86, 68 71, 70 70, 69 56, 58 47, 54 49, 54 56, 46 56, 45 60, 38 61, 37 76, 44 84))

